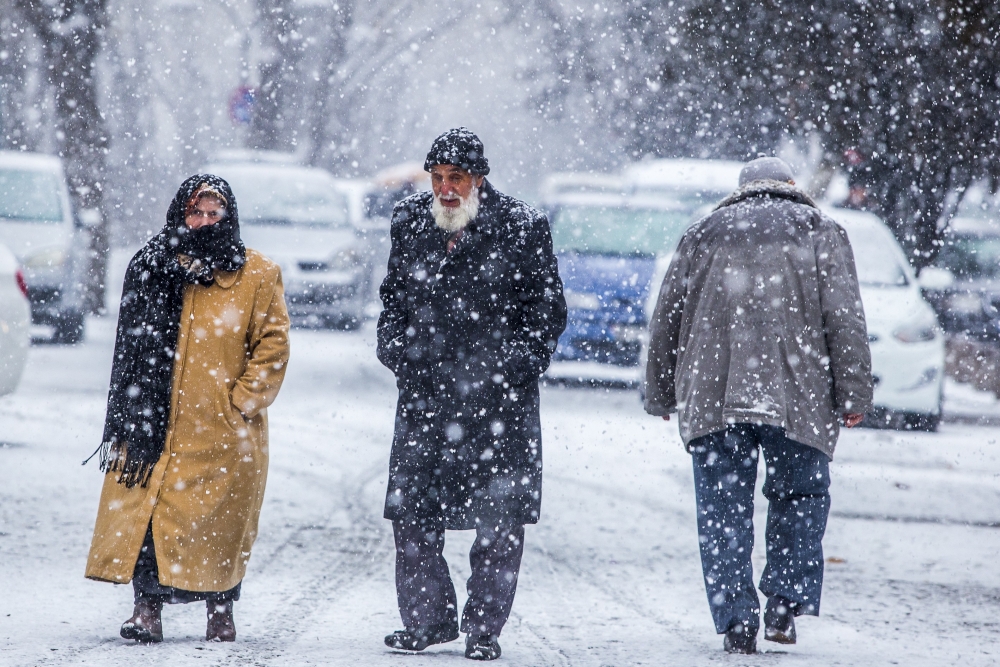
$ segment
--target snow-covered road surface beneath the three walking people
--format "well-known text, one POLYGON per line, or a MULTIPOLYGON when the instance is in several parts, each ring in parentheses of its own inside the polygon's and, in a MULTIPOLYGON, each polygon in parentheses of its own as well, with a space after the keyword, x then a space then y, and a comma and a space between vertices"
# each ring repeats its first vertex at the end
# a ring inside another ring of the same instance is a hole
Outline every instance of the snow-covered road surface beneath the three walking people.
MULTIPOLYGON (((382 645, 399 626, 380 518, 395 390, 370 325, 293 332, 237 643, 203 641, 201 605, 164 611, 163 644, 121 640, 131 587, 82 576, 101 480, 80 461, 100 437, 112 342, 103 319, 81 346, 35 346, 21 389, 0 399, 0 664, 467 664, 460 642, 420 656, 382 645)), ((632 392, 552 387, 542 422, 542 521, 527 530, 506 664, 1000 660, 1000 429, 847 433, 823 616, 799 620, 797 646, 761 641, 761 655, 736 657, 711 626, 676 426, 645 416, 632 392)), ((471 535, 448 536, 460 593, 471 535)))

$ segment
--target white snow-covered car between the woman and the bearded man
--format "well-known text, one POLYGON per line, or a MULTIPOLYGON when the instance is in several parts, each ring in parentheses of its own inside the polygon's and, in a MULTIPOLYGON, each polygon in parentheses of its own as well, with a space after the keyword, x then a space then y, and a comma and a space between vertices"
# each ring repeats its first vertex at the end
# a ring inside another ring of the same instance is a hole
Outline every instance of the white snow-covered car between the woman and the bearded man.
POLYGON ((247 157, 205 165, 226 179, 243 239, 281 266, 292 321, 355 329, 372 293, 371 251, 350 192, 324 169, 247 157))

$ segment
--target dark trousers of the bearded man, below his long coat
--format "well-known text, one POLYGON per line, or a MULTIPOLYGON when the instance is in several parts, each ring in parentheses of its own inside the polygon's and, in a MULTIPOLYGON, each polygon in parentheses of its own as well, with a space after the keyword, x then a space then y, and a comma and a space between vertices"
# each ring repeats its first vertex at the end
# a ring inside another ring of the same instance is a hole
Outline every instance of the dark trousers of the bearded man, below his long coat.
MULTIPOLYGON (((407 628, 458 624, 455 585, 445 562, 444 529, 438 522, 393 521, 396 598, 407 628)), ((510 616, 524 551, 524 526, 476 529, 469 552, 472 576, 462 612, 462 632, 499 635, 510 616)))

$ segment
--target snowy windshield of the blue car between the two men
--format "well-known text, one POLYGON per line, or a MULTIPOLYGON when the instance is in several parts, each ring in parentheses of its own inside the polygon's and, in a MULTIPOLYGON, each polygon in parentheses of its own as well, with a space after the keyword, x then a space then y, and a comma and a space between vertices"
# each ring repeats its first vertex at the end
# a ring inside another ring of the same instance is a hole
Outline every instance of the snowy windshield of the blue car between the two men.
POLYGON ((658 255, 677 247, 691 214, 684 210, 564 206, 552 219, 556 252, 658 255))

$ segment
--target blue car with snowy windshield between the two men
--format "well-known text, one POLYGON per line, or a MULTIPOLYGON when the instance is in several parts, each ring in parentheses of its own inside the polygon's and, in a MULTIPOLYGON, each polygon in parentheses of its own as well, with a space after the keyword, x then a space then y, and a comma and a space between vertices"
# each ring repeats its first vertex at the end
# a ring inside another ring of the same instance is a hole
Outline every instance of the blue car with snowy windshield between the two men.
POLYGON ((670 255, 692 222, 690 204, 568 193, 547 208, 569 321, 546 376, 638 384, 649 316, 670 255))

